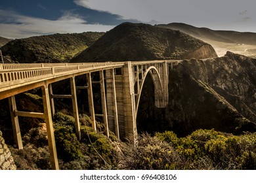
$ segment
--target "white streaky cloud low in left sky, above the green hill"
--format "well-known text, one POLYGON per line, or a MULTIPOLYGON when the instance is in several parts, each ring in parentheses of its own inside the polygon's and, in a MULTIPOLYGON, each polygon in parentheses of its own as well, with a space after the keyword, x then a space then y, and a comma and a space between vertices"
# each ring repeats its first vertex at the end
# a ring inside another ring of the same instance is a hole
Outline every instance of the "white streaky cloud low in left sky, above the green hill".
POLYGON ((64 12, 57 20, 46 20, 0 10, 0 22, 0 36, 7 38, 24 38, 53 33, 108 31, 114 27, 111 25, 87 24, 83 18, 70 12, 64 12))

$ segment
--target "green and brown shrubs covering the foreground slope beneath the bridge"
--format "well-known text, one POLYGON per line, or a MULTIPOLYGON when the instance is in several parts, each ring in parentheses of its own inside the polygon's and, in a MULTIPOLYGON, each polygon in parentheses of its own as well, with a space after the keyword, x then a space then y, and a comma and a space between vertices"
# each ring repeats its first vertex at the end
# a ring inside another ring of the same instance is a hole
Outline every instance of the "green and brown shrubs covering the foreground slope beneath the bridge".
MULTIPOLYGON (((93 132, 85 126, 91 125, 86 115, 80 120, 82 140, 78 141, 74 118, 62 113, 54 116, 60 169, 256 169, 256 133, 236 136, 200 129, 178 138, 165 131, 139 135, 135 147, 113 134, 108 139, 93 132)), ((45 129, 31 129, 24 139, 24 150, 10 148, 17 168, 51 169, 45 129)))

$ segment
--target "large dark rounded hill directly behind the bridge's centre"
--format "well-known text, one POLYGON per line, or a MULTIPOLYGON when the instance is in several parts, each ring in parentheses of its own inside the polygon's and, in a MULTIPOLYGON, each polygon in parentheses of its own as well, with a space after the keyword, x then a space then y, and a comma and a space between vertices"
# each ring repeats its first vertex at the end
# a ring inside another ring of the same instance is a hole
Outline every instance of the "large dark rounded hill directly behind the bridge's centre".
POLYGON ((72 61, 136 61, 216 56, 211 45, 181 31, 148 24, 123 23, 108 31, 72 61))

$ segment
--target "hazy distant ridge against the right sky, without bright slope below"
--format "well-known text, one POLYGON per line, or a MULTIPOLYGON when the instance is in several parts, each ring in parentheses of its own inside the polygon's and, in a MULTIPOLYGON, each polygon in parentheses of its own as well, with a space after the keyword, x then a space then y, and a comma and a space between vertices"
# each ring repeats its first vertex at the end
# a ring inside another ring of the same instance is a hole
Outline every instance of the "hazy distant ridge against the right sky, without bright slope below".
POLYGON ((255 44, 256 45, 256 33, 238 32, 238 31, 214 31, 205 27, 199 28, 188 24, 171 23, 171 24, 159 24, 157 27, 164 27, 169 29, 177 29, 196 37, 198 39, 211 39, 218 42, 238 43, 238 44, 255 44))

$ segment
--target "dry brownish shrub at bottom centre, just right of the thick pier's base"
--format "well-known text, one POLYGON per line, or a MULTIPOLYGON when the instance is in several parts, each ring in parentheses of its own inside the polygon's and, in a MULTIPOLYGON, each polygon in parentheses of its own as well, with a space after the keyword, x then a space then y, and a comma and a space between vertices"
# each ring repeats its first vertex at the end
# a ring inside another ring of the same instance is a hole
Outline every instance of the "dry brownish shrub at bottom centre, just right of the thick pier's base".
POLYGON ((122 151, 121 169, 182 169, 182 159, 158 137, 139 135, 138 146, 125 144, 122 151))

